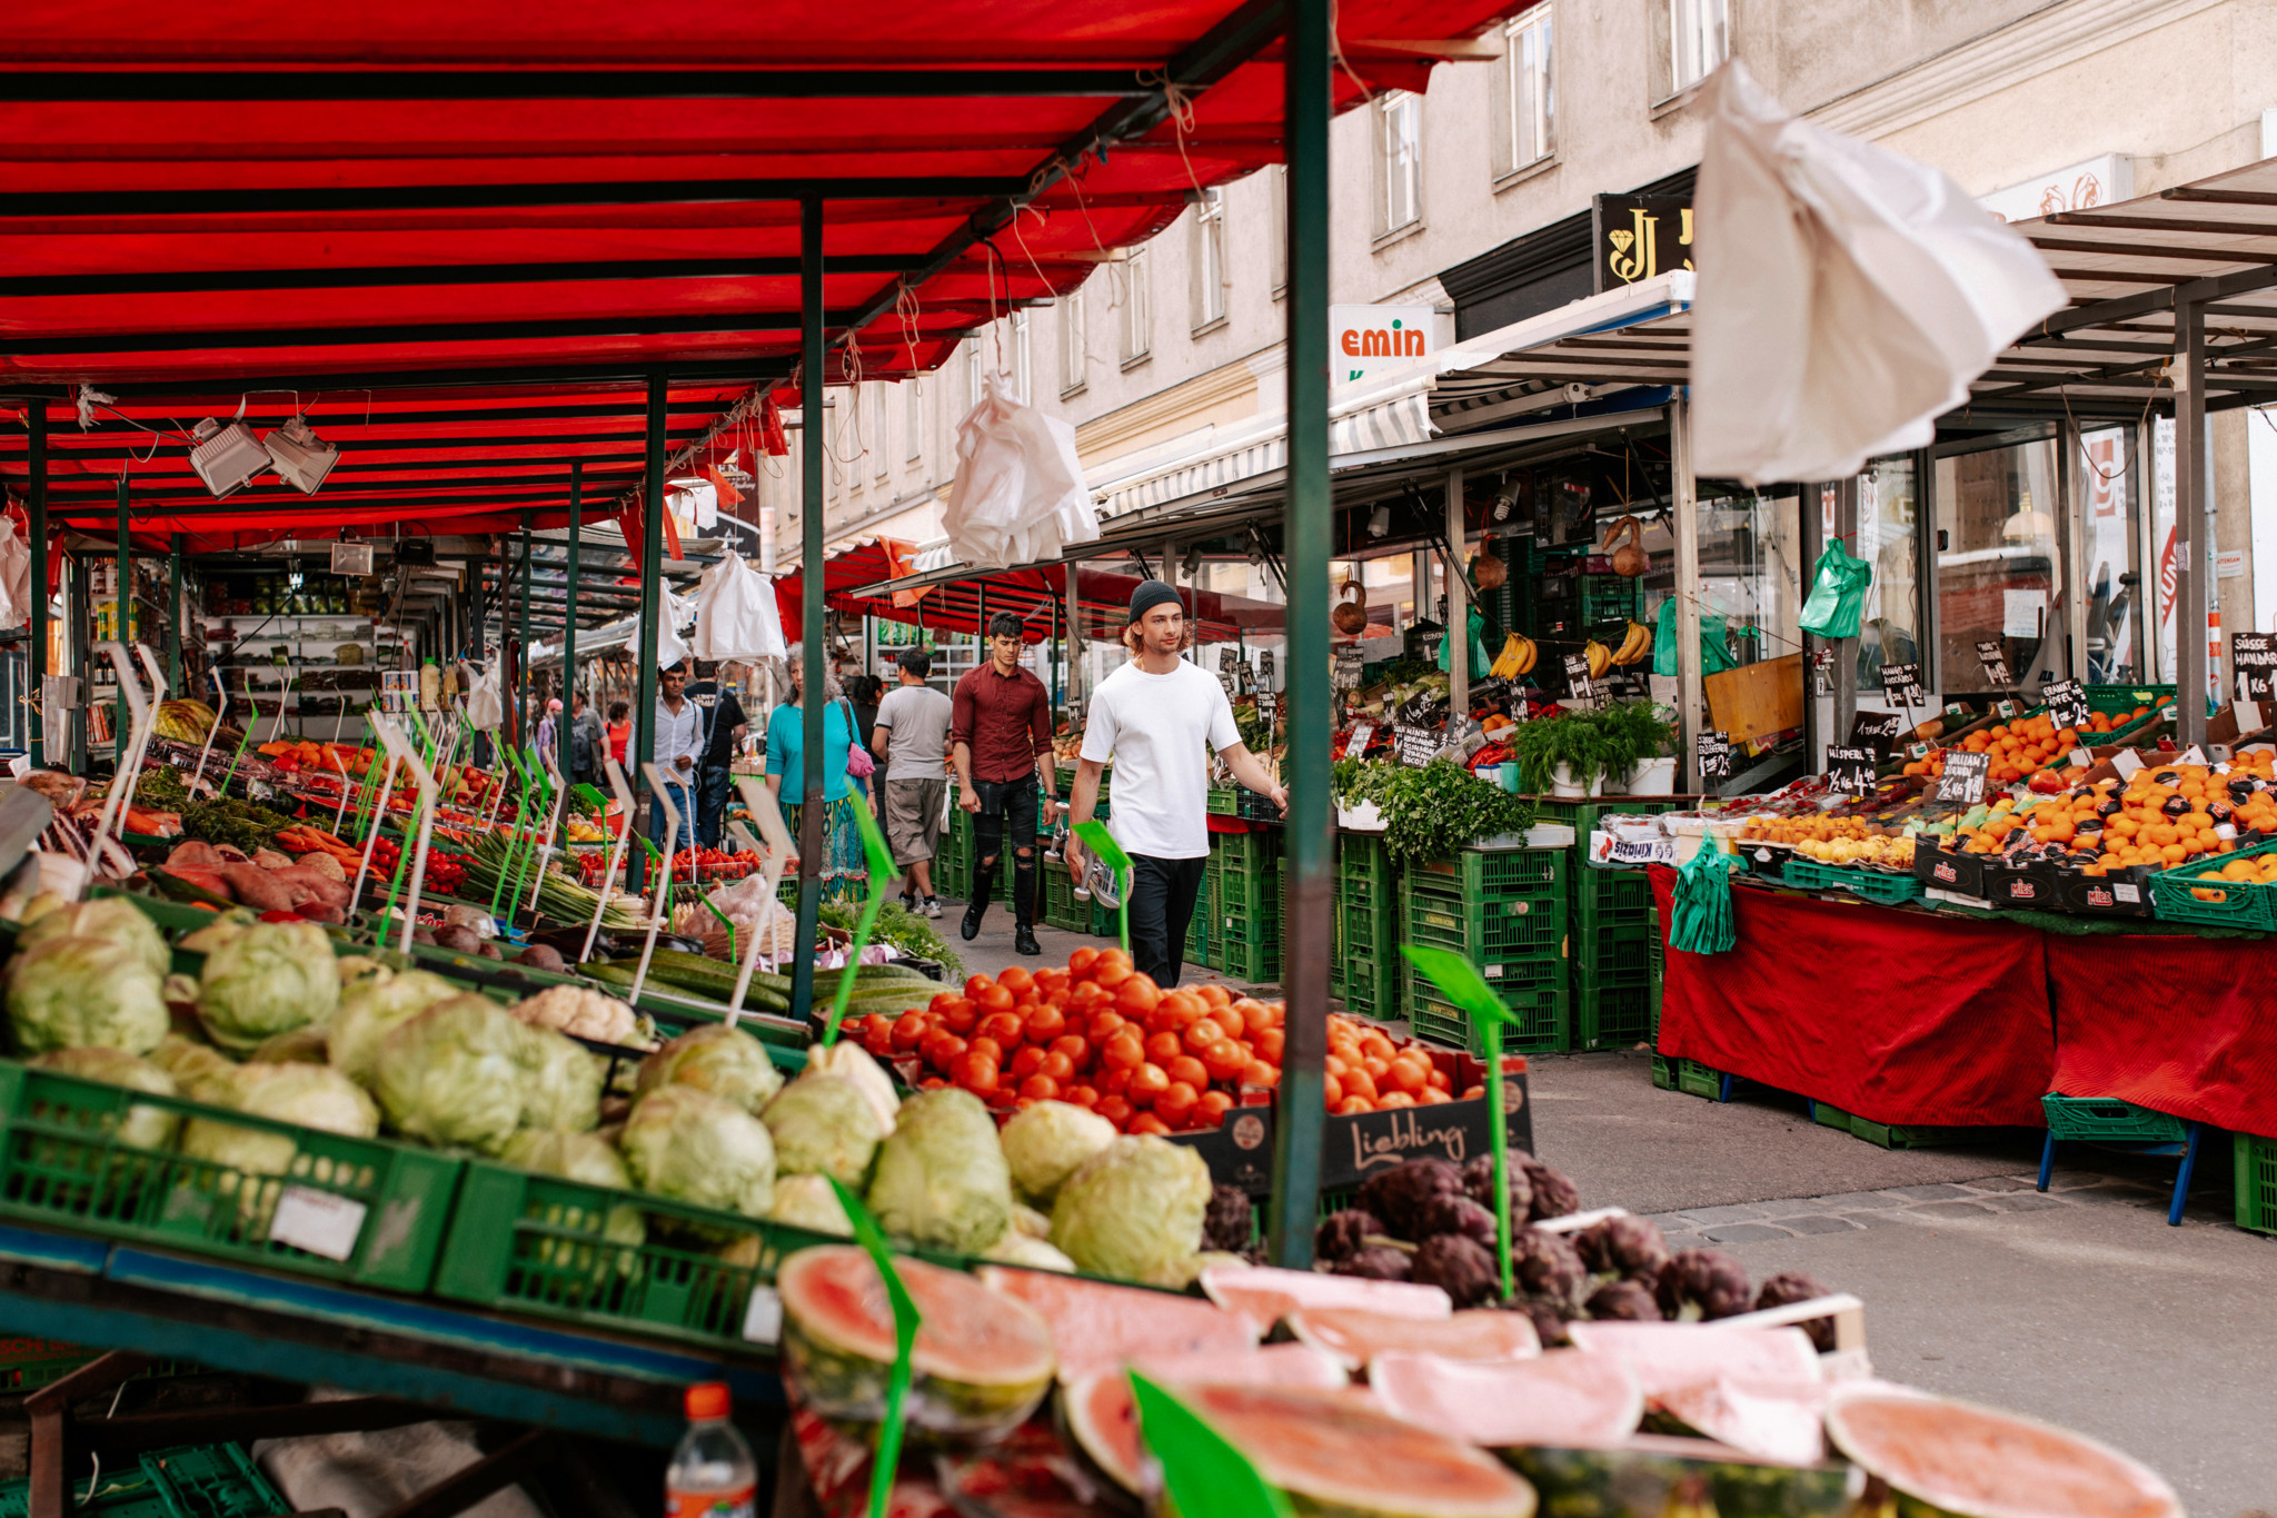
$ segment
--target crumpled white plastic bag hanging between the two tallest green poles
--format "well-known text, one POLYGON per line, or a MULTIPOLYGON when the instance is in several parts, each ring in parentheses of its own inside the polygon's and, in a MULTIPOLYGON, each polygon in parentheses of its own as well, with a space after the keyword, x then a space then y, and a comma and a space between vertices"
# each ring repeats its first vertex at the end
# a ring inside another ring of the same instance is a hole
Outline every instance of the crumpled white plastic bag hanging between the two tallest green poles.
POLYGON ((1054 560, 1100 535, 1075 428, 1022 405, 1009 373, 986 376, 979 405, 956 423, 943 528, 961 562, 986 569, 1054 560))

